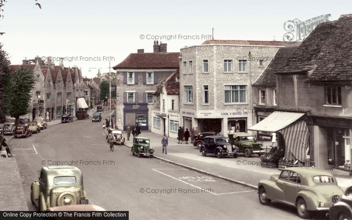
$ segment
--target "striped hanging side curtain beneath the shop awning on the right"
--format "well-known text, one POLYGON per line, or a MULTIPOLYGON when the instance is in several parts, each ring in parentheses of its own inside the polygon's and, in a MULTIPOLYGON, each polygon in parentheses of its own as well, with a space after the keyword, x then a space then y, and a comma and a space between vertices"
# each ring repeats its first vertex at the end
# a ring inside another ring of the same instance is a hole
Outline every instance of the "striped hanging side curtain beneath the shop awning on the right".
POLYGON ((291 125, 279 131, 285 140, 285 158, 306 160, 309 130, 304 121, 291 125))

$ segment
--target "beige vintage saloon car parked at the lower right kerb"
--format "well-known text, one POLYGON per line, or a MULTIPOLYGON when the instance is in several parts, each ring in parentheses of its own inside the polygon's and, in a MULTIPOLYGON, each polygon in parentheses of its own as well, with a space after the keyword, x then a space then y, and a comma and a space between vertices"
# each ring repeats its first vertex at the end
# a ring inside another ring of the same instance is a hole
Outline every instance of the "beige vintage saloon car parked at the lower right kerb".
POLYGON ((311 211, 328 211, 342 194, 330 172, 314 167, 287 168, 258 183, 261 204, 276 201, 295 206, 301 218, 309 217, 311 211))

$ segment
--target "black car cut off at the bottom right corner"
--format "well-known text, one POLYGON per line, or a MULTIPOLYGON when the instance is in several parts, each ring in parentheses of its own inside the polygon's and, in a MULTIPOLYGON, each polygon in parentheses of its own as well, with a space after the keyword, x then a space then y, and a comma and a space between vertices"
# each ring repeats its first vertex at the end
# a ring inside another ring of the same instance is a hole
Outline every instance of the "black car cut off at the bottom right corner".
POLYGON ((352 219, 352 186, 329 208, 330 219, 352 219))

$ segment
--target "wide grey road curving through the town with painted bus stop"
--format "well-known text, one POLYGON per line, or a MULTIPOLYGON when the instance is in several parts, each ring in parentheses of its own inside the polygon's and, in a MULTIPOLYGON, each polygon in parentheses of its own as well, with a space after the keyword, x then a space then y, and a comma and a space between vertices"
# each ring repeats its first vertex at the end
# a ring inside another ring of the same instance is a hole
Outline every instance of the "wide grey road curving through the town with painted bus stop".
POLYGON ((130 219, 300 219, 293 207, 261 205, 251 188, 155 158, 137 158, 126 146, 115 145, 110 152, 102 124, 74 120, 11 141, 30 210, 35 210, 30 186, 42 166, 65 164, 82 171, 91 204, 128 210, 130 219))

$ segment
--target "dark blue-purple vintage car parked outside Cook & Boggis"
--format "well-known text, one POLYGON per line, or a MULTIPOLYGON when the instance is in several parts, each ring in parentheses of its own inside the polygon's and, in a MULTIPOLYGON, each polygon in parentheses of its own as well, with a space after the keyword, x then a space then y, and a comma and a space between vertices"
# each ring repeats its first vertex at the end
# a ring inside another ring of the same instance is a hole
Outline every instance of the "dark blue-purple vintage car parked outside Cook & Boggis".
POLYGON ((200 152, 205 157, 207 154, 216 155, 218 158, 222 156, 232 156, 237 158, 238 147, 229 143, 229 139, 223 136, 208 136, 204 138, 204 144, 201 147, 200 152))

